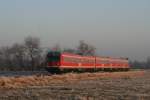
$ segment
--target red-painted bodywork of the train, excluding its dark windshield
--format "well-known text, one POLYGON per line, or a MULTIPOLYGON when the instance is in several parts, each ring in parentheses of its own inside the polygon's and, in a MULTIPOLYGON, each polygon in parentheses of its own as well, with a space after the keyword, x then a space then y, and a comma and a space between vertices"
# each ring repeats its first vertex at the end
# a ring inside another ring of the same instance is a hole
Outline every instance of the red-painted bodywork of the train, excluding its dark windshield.
MULTIPOLYGON (((53 58, 54 56, 49 56, 53 58)), ((70 53, 60 53, 56 61, 48 61, 47 68, 63 69, 129 69, 127 58, 81 56, 70 53)))

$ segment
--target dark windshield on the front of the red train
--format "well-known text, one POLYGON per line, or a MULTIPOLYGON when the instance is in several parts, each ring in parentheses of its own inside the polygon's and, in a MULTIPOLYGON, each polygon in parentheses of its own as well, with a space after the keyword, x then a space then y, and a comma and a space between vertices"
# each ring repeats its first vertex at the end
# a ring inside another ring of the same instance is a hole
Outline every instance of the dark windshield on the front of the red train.
POLYGON ((60 52, 57 52, 57 51, 48 52, 47 60, 48 60, 48 62, 57 62, 57 61, 59 61, 60 60, 60 52))

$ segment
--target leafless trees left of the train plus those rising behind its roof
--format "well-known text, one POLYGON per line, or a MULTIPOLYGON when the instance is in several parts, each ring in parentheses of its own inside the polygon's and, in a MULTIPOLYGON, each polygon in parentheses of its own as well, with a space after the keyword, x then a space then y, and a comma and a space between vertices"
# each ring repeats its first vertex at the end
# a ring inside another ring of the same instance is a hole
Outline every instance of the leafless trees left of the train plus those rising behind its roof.
MULTIPOLYGON (((81 55, 95 55, 95 47, 80 41, 75 49, 61 49, 55 45, 52 50, 70 52, 81 55)), ((0 47, 0 70, 43 70, 45 66, 46 52, 41 48, 40 39, 26 37, 23 43, 15 43, 12 46, 0 47)))

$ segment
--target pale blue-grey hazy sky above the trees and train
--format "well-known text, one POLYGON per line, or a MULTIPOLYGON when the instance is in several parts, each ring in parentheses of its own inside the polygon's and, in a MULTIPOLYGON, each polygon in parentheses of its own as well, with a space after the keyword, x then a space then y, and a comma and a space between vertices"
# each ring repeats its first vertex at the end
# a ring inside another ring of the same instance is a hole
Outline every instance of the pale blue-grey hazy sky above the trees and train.
POLYGON ((150 0, 0 0, 0 46, 36 36, 43 47, 95 45, 99 55, 150 56, 150 0))

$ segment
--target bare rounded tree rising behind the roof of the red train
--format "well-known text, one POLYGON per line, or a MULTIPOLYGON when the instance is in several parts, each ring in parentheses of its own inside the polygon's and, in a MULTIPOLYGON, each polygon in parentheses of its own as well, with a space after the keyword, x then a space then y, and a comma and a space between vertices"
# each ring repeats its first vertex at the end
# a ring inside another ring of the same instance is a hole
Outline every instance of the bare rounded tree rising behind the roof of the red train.
POLYGON ((79 46, 77 47, 78 53, 81 55, 95 55, 96 48, 93 45, 85 43, 83 40, 79 42, 79 46))

